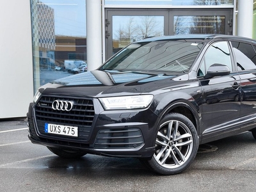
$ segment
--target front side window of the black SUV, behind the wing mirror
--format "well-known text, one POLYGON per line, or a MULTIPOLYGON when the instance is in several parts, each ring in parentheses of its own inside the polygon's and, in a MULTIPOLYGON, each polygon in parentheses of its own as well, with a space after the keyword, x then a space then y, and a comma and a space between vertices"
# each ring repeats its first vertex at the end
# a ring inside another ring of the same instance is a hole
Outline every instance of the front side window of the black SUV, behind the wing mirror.
POLYGON ((230 50, 227 42, 217 42, 209 47, 202 60, 197 76, 205 76, 208 68, 215 63, 227 65, 230 71, 232 71, 230 50))

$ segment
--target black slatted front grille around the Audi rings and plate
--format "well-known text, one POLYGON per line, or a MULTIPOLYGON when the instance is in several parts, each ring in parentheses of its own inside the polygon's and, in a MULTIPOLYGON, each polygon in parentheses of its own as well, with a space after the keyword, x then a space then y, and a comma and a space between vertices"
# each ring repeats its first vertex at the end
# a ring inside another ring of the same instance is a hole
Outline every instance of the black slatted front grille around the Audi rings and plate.
MULTIPOLYGON (((48 133, 44 132, 45 123, 72 125, 77 126, 79 130, 78 137, 72 138, 73 140, 88 141, 94 115, 93 101, 90 99, 42 96, 35 106, 36 124, 40 134, 49 136, 48 133), (72 101, 74 107, 71 111, 52 109, 52 102, 58 99, 72 101)), ((68 138, 60 135, 58 137, 68 138)))

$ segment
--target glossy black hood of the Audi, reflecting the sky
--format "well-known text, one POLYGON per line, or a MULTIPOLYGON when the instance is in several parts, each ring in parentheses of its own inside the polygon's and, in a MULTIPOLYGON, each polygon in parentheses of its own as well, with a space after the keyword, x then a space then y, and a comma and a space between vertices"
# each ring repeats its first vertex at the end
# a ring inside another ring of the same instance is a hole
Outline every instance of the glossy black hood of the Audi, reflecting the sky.
POLYGON ((42 86, 41 92, 79 97, 134 95, 179 86, 180 81, 187 80, 188 74, 93 70, 52 81, 42 86))

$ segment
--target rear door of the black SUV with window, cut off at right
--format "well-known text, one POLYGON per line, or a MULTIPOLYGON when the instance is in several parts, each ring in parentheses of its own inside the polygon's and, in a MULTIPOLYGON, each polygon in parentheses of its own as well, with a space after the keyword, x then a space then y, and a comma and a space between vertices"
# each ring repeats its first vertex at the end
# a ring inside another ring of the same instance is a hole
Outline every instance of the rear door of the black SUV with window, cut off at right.
POLYGON ((241 77, 241 122, 248 125, 256 119, 256 45, 239 41, 231 44, 241 77))

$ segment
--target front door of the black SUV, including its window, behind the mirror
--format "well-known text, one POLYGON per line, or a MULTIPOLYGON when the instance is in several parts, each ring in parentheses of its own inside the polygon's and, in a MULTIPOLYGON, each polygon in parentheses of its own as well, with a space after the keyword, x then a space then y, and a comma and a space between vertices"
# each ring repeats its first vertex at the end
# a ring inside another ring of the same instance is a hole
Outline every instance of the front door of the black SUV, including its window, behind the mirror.
POLYGON ((202 132, 203 140, 214 137, 230 129, 240 115, 240 77, 233 70, 234 61, 230 46, 226 41, 215 42, 207 48, 198 70, 202 86, 202 132), (227 65, 230 74, 205 79, 211 65, 227 65))

